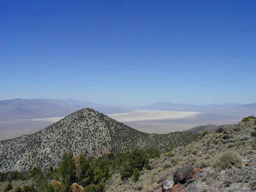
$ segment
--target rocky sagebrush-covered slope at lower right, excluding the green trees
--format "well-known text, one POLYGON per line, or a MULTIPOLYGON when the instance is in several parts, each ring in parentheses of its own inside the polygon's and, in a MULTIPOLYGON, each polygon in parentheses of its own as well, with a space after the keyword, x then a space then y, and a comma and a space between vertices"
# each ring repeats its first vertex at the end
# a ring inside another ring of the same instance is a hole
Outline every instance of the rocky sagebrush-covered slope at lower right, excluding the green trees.
POLYGON ((150 161, 151 170, 144 170, 138 182, 120 180, 116 172, 106 185, 107 192, 249 192, 256 190, 256 121, 240 122, 204 133, 196 142, 175 148, 150 161), (184 166, 183 182, 177 173, 184 166), (178 172, 176 172, 178 170, 178 172), (187 171, 186 170, 186 171, 187 171), (187 179, 186 179, 187 176, 187 179))

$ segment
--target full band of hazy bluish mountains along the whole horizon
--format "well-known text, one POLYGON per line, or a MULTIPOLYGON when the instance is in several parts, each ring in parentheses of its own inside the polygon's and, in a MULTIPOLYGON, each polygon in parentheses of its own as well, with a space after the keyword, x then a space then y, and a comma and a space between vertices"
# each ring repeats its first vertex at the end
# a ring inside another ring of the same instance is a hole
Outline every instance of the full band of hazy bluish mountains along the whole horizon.
MULTIPOLYGON (((194 112, 217 112, 219 114, 239 114, 244 116, 256 113, 256 103, 252 104, 216 104, 193 105, 160 102, 144 106, 105 105, 80 100, 53 100, 53 99, 13 99, 0 101, 0 120, 22 118, 44 118, 52 116, 66 116, 82 108, 94 108, 104 114, 131 112, 142 110, 176 110, 194 112)), ((240 118, 240 116, 239 116, 240 118)))

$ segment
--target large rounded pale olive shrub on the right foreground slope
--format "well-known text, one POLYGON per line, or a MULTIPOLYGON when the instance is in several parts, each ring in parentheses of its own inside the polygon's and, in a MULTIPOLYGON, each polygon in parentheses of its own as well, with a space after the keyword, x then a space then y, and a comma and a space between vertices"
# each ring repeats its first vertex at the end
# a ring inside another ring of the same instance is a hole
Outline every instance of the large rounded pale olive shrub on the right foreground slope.
POLYGON ((241 159, 242 158, 238 152, 227 150, 214 156, 213 165, 214 167, 219 167, 221 169, 231 168, 232 166, 240 167, 242 166, 241 159))

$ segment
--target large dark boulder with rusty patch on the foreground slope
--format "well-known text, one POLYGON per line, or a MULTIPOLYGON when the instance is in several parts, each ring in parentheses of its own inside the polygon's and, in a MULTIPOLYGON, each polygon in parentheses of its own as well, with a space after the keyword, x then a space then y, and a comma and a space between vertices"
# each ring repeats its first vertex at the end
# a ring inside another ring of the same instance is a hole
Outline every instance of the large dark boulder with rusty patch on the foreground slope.
POLYGON ((185 166, 174 173, 173 181, 174 184, 184 184, 187 179, 193 177, 194 168, 191 165, 185 166))

